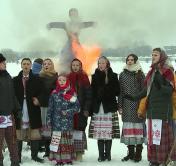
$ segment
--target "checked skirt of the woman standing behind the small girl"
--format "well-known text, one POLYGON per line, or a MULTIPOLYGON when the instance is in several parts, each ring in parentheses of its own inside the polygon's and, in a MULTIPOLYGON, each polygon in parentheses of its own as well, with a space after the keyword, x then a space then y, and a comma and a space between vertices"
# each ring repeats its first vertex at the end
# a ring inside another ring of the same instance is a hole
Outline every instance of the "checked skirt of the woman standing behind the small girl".
POLYGON ((74 151, 84 153, 87 150, 87 138, 85 131, 73 131, 74 151))

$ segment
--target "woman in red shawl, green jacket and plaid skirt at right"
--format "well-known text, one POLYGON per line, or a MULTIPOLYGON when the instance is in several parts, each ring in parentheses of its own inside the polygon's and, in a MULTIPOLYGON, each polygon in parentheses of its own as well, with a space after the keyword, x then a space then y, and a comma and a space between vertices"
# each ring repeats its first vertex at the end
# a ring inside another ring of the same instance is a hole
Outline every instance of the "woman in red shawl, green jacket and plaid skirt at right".
MULTIPOLYGON (((166 53, 160 48, 153 49, 152 66, 146 76, 145 85, 146 88, 140 94, 126 95, 126 97, 130 100, 138 100, 147 96, 148 160, 150 166, 164 165, 174 139, 171 125, 174 74, 166 53)), ((174 153, 171 159, 176 160, 174 153)))

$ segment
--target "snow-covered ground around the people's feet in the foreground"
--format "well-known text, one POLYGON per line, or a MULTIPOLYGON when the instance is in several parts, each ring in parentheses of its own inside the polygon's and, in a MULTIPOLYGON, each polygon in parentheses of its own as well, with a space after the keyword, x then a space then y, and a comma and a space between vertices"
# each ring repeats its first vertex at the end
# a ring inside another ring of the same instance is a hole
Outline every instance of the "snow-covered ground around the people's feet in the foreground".
MULTIPOLYGON (((120 126, 122 123, 120 121, 120 126)), ((147 151, 146 145, 144 145, 143 154, 142 154, 142 161, 139 163, 134 163, 133 161, 122 162, 121 159, 127 154, 127 148, 124 144, 120 143, 119 139, 114 139, 112 143, 112 160, 105 161, 105 162, 98 162, 98 148, 97 148, 97 141, 93 139, 88 139, 88 150, 86 151, 83 161, 82 162, 74 162, 73 164, 76 166, 148 166, 147 162, 147 151)), ((8 150, 4 153, 4 165, 10 166, 10 160, 8 155, 8 150)), ((39 153, 39 156, 42 157, 44 153, 39 153)), ((54 166, 53 162, 48 161, 45 159, 44 164, 40 164, 31 160, 30 150, 28 146, 23 146, 22 152, 22 166, 54 166)))

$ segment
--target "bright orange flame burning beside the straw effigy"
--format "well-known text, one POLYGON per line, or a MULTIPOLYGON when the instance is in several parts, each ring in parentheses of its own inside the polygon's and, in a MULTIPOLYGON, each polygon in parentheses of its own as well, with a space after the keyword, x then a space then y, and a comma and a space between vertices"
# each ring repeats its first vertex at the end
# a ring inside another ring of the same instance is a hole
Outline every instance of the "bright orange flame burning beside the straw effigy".
POLYGON ((89 75, 93 65, 101 54, 101 49, 98 46, 88 47, 81 45, 77 38, 72 38, 72 51, 75 57, 82 62, 84 71, 89 75))

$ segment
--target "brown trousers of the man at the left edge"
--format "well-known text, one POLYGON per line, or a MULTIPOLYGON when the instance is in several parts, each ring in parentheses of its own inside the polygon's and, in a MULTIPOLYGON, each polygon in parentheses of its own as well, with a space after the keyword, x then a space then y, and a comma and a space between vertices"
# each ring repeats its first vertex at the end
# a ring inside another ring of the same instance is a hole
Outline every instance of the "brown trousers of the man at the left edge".
POLYGON ((2 148, 4 138, 6 140, 11 161, 19 161, 18 148, 15 138, 14 127, 0 128, 0 160, 3 160, 2 148))

